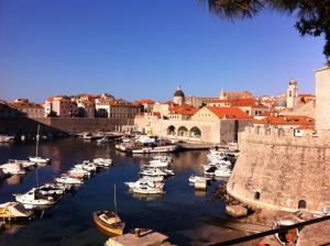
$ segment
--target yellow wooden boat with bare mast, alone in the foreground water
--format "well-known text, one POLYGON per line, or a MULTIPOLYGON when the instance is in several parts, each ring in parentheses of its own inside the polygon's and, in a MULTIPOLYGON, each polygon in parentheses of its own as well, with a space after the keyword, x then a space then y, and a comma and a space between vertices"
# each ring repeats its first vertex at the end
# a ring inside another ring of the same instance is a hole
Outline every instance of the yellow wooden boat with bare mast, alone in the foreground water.
POLYGON ((107 233, 122 235, 125 223, 117 214, 116 185, 114 185, 114 212, 112 211, 96 211, 92 213, 95 224, 107 233))

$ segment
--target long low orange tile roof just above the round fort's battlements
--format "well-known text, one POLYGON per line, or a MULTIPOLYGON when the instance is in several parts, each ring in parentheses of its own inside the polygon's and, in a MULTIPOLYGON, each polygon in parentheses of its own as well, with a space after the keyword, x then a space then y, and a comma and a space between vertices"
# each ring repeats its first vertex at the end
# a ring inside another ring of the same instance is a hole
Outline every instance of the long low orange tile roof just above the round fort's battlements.
POLYGON ((254 120, 253 123, 274 125, 315 125, 315 119, 300 115, 278 115, 268 116, 262 120, 254 120))

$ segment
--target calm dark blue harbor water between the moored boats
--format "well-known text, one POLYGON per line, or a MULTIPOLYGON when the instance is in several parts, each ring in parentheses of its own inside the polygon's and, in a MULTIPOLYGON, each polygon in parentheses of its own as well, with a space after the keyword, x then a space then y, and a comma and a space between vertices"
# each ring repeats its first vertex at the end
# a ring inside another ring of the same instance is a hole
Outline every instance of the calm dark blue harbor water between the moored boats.
MULTIPOLYGON (((26 159, 34 155, 33 142, 0 145, 0 164, 8 159, 26 159)), ((224 203, 213 198, 218 183, 207 193, 196 193, 188 185, 191 174, 201 172, 207 160, 206 152, 185 152, 173 155, 176 176, 166 180, 166 194, 145 199, 133 197, 124 187, 125 181, 139 177, 140 165, 151 156, 127 156, 114 149, 114 144, 97 145, 76 138, 42 142, 42 156, 52 164, 38 169, 38 183, 53 180, 84 159, 112 158, 114 166, 98 172, 85 182, 76 193, 66 194, 56 205, 24 225, 13 225, 0 233, 0 245, 103 245, 108 236, 94 225, 91 213, 96 210, 113 210, 113 185, 117 185, 118 212, 127 222, 125 231, 148 227, 169 236, 177 245, 196 244, 198 231, 215 219, 224 217, 224 203), (195 242, 195 243, 194 243, 195 242)), ((13 201, 12 193, 26 192, 36 186, 36 172, 11 177, 0 183, 0 203, 13 201)))

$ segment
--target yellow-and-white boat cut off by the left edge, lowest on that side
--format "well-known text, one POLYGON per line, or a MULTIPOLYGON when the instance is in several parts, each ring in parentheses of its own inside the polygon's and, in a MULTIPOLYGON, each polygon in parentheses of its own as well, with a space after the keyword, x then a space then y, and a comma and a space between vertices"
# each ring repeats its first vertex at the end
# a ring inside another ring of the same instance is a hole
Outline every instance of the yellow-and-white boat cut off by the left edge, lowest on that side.
POLYGON ((33 215, 31 210, 26 210, 19 202, 6 202, 0 204, 0 219, 2 220, 23 220, 33 215))

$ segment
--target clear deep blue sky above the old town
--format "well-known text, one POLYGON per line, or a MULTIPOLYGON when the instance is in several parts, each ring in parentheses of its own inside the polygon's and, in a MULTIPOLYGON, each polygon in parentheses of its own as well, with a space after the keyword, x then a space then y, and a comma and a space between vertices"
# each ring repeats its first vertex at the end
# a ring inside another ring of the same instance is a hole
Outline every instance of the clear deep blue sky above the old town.
POLYGON ((275 94, 296 78, 315 92, 323 37, 295 18, 215 16, 197 0, 0 0, 0 99, 109 92, 135 100, 275 94))

